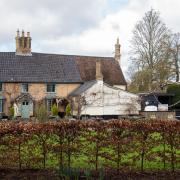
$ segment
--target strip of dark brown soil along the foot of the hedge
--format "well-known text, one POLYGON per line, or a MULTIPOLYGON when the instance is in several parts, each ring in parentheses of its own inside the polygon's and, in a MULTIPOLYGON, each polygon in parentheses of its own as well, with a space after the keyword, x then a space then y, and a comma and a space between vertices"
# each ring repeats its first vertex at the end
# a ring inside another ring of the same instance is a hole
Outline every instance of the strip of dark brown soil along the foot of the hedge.
MULTIPOLYGON (((59 177, 57 172, 52 169, 0 169, 0 180, 59 180, 65 179, 59 177)), ((71 178, 72 180, 75 178, 71 178)), ((81 176, 80 180, 86 179, 81 176)), ((93 172, 93 178, 99 179, 98 173, 93 172)), ((120 172, 108 170, 105 173, 104 180, 180 180, 180 171, 146 171, 146 172, 120 172)))

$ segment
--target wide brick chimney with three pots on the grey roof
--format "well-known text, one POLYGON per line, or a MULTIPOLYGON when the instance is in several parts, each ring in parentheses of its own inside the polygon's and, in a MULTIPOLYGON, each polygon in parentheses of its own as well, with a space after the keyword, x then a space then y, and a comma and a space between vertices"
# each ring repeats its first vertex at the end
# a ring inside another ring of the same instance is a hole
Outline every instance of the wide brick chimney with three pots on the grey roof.
POLYGON ((16 32, 16 55, 31 56, 31 37, 30 32, 27 32, 27 36, 22 34, 20 36, 19 30, 16 32))

